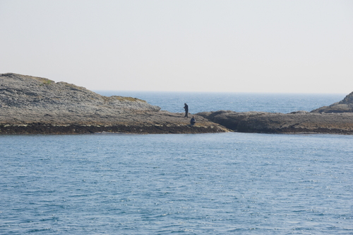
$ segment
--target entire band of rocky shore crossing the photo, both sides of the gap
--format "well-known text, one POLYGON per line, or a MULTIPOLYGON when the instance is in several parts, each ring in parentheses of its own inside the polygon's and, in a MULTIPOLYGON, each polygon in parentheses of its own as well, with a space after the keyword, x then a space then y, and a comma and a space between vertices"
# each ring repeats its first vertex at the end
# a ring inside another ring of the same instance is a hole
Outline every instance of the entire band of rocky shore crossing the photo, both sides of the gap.
POLYGON ((100 96, 86 88, 20 74, 0 74, 0 134, 321 133, 353 134, 353 92, 311 112, 229 110, 170 113, 138 98, 100 96))

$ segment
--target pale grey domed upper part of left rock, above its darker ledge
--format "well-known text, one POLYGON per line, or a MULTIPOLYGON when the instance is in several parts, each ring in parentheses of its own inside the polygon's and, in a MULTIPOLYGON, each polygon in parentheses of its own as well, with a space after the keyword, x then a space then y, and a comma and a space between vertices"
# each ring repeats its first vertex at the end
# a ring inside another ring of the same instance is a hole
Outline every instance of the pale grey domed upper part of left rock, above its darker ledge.
POLYGON ((35 76, 0 74, 0 105, 3 108, 37 109, 38 112, 95 113, 104 109, 110 113, 116 110, 158 111, 138 98, 122 96, 100 96, 86 88, 54 82, 35 76))

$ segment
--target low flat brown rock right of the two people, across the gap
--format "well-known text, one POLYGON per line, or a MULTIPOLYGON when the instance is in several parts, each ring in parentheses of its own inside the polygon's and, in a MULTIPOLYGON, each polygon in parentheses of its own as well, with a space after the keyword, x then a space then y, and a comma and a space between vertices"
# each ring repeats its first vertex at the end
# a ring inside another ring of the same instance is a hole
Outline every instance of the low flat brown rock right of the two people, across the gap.
POLYGON ((198 115, 237 132, 353 134, 353 113, 237 113, 220 110, 198 115))

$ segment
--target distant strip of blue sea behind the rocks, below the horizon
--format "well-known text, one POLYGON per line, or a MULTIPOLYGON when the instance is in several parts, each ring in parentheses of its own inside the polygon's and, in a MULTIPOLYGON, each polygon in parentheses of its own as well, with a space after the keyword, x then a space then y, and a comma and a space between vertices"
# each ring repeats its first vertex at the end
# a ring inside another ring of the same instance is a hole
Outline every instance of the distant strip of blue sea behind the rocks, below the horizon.
POLYGON ((269 113, 290 113, 311 111, 322 106, 342 101, 347 94, 317 93, 193 93, 152 91, 97 91, 103 96, 131 96, 140 98, 162 110, 184 113, 184 103, 190 113, 217 110, 236 112, 263 111, 269 113))

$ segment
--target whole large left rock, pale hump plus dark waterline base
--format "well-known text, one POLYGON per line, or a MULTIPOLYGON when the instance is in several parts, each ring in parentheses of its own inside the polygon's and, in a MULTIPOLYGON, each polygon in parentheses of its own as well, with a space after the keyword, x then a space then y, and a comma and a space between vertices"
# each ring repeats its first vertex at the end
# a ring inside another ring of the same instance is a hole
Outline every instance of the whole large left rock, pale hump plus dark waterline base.
POLYGON ((138 98, 100 96, 86 88, 20 74, 0 74, 0 133, 204 133, 227 129, 203 117, 189 126, 138 98))

